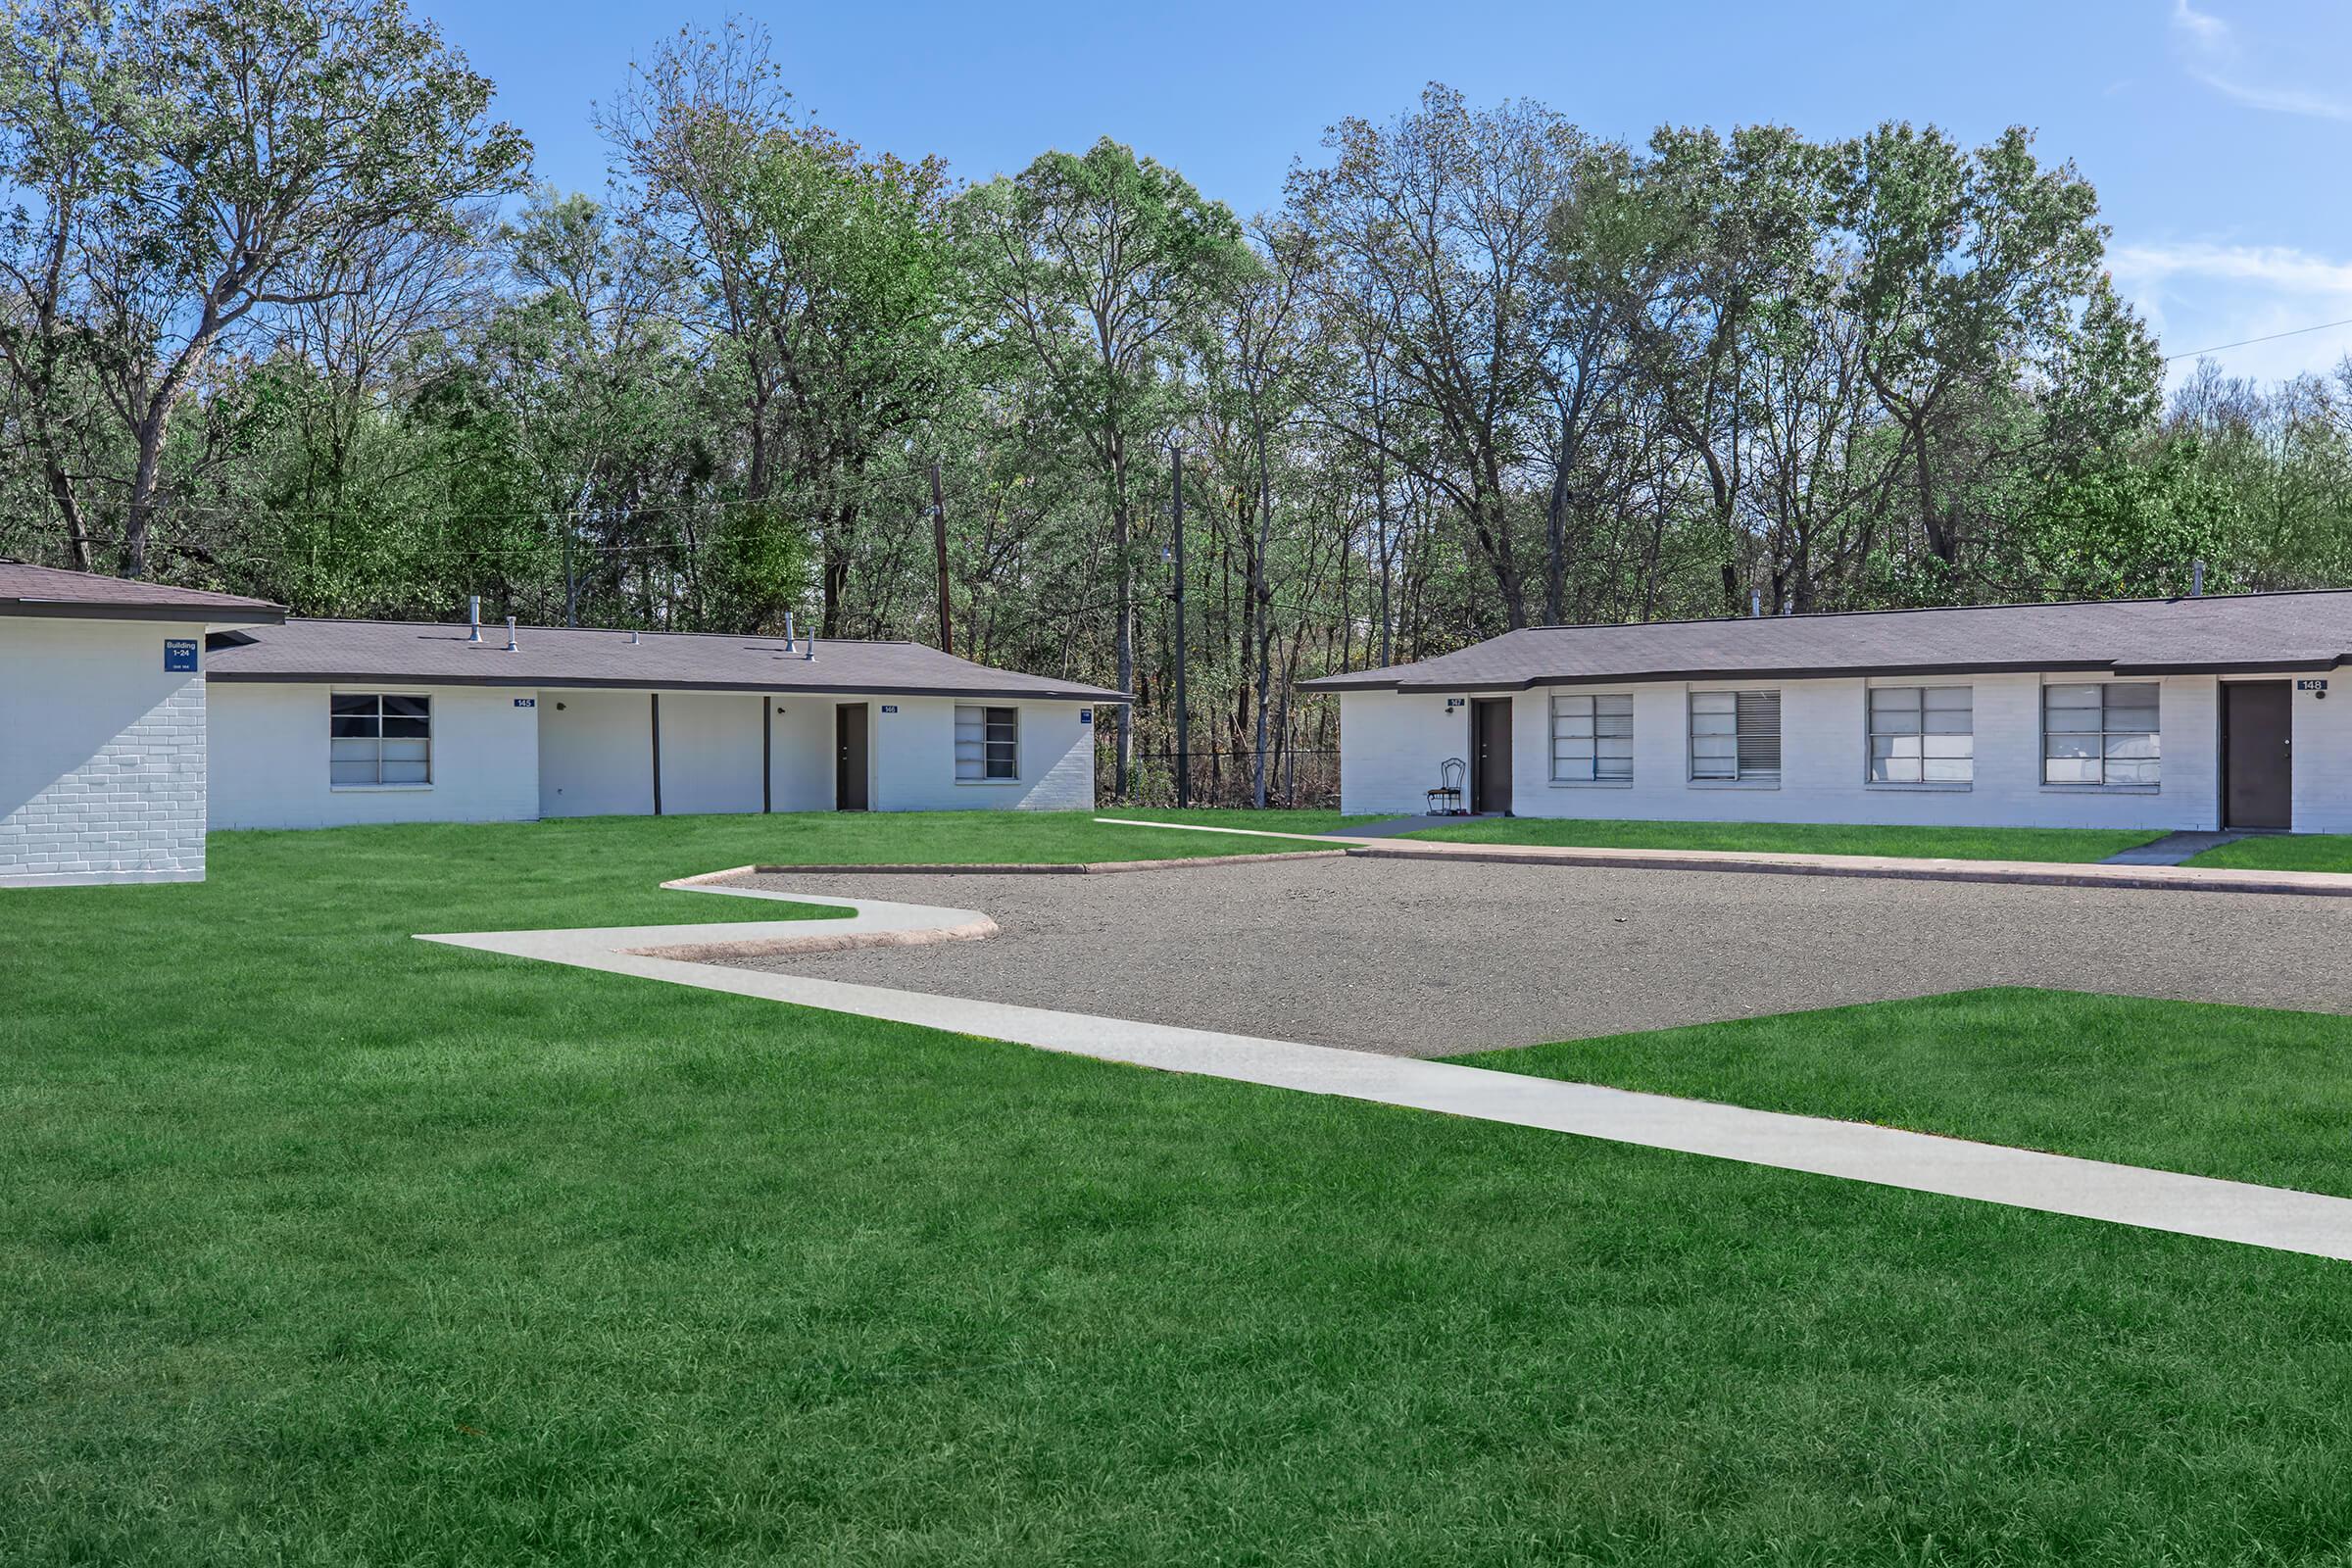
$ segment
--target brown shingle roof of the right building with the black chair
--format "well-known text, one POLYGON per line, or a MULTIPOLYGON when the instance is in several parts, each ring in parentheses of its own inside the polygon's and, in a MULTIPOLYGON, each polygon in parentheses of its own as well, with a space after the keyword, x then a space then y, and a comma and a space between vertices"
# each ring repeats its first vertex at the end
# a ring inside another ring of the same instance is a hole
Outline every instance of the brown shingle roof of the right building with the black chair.
POLYGON ((1832 616, 1538 625, 1305 691, 1517 691, 1559 682, 2103 670, 2328 670, 2352 661, 2352 590, 1971 604, 1832 616))

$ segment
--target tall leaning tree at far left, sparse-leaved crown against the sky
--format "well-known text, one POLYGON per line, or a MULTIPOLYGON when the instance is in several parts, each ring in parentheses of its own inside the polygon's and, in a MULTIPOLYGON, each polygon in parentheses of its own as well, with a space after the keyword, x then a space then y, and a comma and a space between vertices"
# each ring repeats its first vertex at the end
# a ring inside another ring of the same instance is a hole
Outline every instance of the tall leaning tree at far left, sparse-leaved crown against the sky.
MULTIPOLYGON (((85 162, 54 179, 21 158, 7 179, 73 209, 47 226, 71 237, 78 331, 129 447, 120 562, 141 576, 172 414, 221 343, 353 294, 365 273, 343 261, 365 247, 456 230, 517 186, 529 143, 485 118, 489 80, 397 0, 47 5, 87 14, 87 42, 42 56, 49 118, 7 134, 85 162)), ((0 113, 31 96, 12 87, 0 113)))

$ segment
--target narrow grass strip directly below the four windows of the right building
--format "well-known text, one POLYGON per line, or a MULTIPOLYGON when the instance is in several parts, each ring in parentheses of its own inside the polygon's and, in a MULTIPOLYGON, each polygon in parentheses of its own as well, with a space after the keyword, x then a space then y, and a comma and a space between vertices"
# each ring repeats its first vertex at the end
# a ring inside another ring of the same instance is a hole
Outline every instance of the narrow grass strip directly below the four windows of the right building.
POLYGON ((1938 860, 2105 860, 2161 832, 2105 827, 1872 827, 1867 823, 1616 823, 1489 816, 1409 839, 1564 844, 1576 849, 1745 849, 1795 856, 1924 856, 1938 860))

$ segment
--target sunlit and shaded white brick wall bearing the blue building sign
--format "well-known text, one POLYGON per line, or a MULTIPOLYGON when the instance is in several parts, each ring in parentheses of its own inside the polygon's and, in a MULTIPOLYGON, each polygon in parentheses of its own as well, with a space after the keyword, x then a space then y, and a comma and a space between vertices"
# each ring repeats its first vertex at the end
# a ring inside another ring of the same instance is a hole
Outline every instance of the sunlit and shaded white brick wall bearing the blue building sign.
POLYGON ((0 621, 0 886, 205 877, 205 677, 158 621, 0 621))

